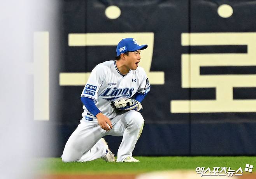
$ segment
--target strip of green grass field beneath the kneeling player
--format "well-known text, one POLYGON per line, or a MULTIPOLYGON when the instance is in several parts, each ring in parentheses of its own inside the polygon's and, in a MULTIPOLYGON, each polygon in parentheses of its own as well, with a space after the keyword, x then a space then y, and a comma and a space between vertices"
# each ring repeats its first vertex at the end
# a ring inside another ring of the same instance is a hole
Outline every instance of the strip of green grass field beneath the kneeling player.
MULTIPOLYGON (((102 159, 91 162, 63 163, 61 158, 37 159, 42 174, 138 174, 161 170, 194 170, 196 167, 231 167, 242 170, 245 164, 256 164, 256 157, 135 157, 138 163, 108 163, 102 159)), ((252 172, 256 172, 256 167, 252 172)))

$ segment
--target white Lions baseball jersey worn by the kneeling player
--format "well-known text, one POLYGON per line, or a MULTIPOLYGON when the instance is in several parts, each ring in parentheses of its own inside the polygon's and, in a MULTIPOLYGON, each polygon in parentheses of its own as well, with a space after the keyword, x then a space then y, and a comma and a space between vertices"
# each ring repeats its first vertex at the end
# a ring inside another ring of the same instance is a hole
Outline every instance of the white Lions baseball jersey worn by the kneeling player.
MULTIPOLYGON (((96 107, 109 119, 117 115, 115 108, 110 105, 112 100, 130 98, 136 92, 148 93, 149 80, 142 67, 130 70, 123 76, 117 69, 116 60, 110 60, 96 65, 84 86, 81 97, 94 100, 96 107)), ((96 120, 85 106, 82 113, 83 119, 96 120)))

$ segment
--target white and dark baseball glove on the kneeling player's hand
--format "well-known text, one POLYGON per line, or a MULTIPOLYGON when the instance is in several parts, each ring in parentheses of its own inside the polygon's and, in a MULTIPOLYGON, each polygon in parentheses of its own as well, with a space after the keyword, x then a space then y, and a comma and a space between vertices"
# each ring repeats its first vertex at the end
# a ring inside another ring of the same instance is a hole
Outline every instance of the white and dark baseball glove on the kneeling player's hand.
POLYGON ((140 111, 143 109, 142 105, 140 102, 133 100, 133 99, 128 99, 128 98, 122 98, 122 99, 117 99, 111 102, 111 104, 118 110, 135 110, 135 111, 140 111))

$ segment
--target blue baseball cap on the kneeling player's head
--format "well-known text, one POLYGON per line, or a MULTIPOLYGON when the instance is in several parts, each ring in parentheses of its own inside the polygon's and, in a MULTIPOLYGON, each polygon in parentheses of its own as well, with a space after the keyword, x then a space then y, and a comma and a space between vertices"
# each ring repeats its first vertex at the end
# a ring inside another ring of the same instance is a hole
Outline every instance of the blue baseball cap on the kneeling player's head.
POLYGON ((139 45, 134 38, 123 38, 116 46, 116 55, 119 56, 121 53, 134 52, 136 50, 144 50, 147 45, 139 45))

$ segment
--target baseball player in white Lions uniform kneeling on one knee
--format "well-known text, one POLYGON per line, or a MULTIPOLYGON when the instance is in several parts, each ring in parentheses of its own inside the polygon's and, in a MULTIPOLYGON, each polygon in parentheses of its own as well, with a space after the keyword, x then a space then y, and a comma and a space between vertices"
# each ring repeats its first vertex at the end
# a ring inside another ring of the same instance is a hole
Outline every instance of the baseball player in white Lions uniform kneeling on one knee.
POLYGON ((115 162, 103 139, 106 135, 123 136, 117 162, 139 162, 132 157, 132 151, 144 126, 139 113, 141 102, 150 90, 146 72, 139 66, 140 50, 146 48, 133 38, 125 38, 116 47, 116 60, 98 64, 92 70, 81 94, 82 119, 65 145, 63 162, 97 158, 115 162))

